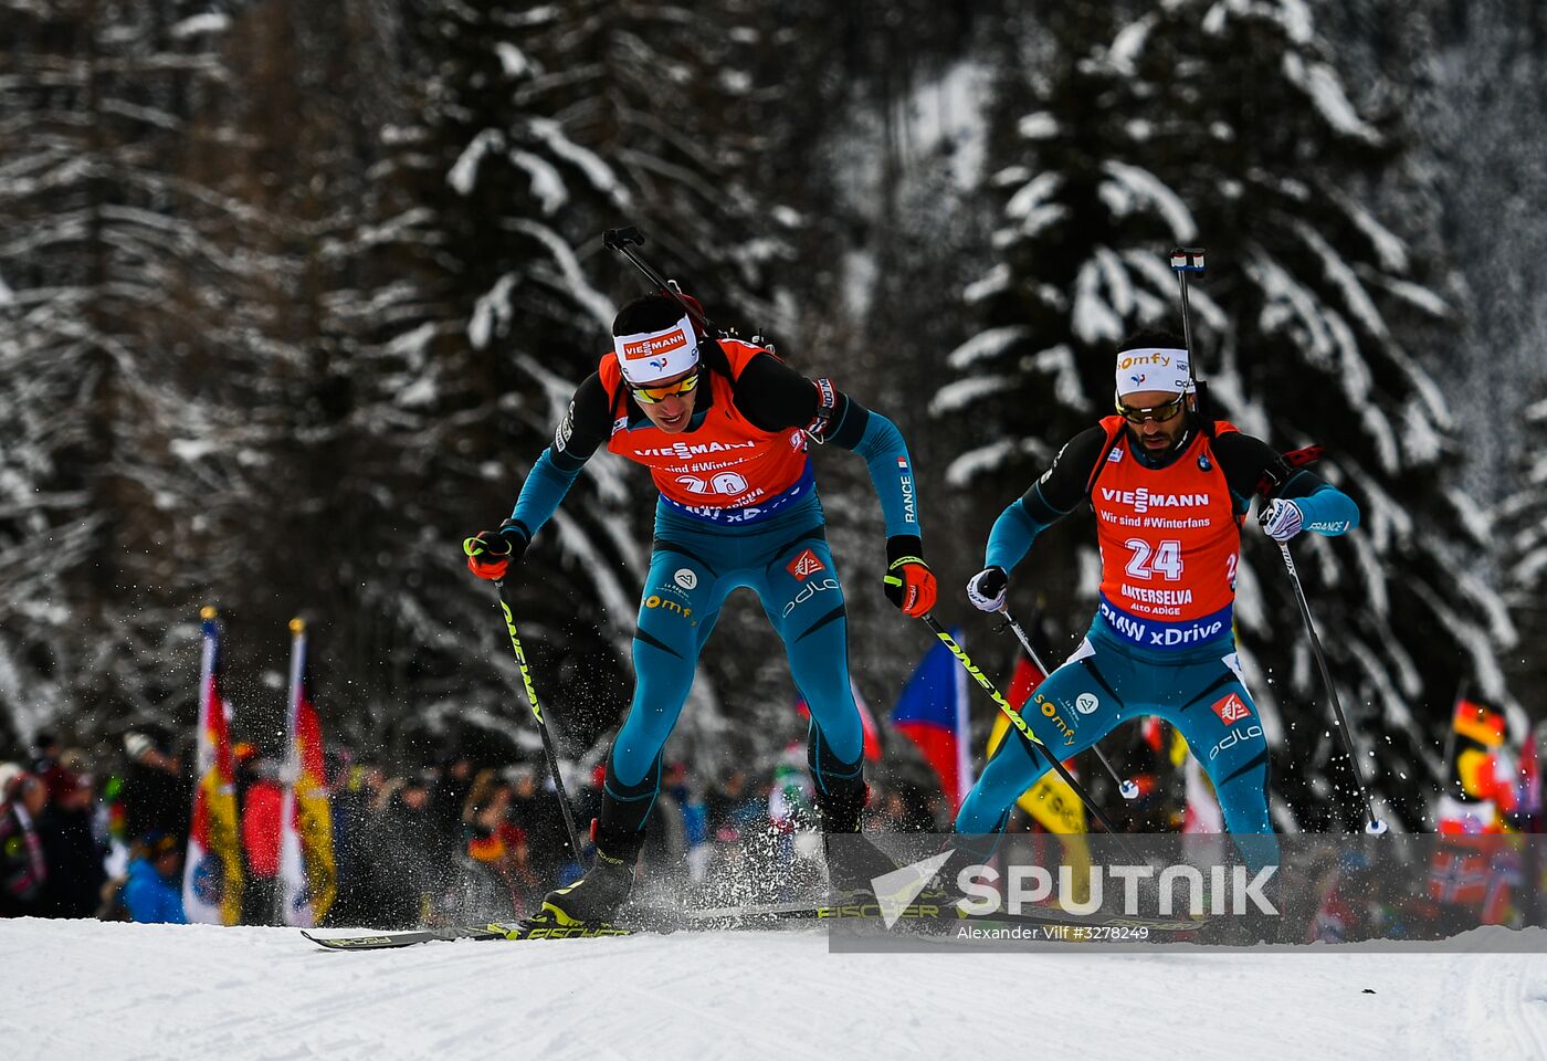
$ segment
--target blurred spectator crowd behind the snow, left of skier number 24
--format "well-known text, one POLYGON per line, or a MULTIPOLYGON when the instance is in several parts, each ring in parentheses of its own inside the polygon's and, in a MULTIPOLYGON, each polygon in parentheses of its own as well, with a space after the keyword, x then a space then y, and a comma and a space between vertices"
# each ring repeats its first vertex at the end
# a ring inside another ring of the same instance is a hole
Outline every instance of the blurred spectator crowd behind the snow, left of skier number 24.
MULTIPOLYGON (((249 744, 234 752, 241 923, 274 925, 285 769, 249 744)), ((145 728, 125 733, 122 753, 107 761, 88 761, 53 735, 40 735, 29 758, 0 764, 0 917, 186 922, 190 752, 145 728)), ((388 773, 334 749, 326 766, 339 880, 323 925, 523 917, 580 872, 541 764, 489 764, 453 752, 388 773)), ((600 767, 566 776, 583 846, 600 784, 600 767)), ((868 827, 922 832, 948 820, 937 790, 882 784, 868 827)), ((815 826, 803 745, 719 778, 668 764, 639 894, 712 905, 792 897, 821 878, 815 826)))

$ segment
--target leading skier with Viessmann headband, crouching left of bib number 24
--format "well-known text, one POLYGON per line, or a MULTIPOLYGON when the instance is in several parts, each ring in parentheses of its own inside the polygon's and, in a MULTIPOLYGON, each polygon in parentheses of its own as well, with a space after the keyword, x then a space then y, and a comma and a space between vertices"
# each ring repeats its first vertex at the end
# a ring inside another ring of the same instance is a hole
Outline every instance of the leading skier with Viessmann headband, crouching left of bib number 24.
MULTIPOLYGON (((883 586, 891 602, 922 616, 936 595, 908 450, 891 421, 766 350, 701 336, 665 295, 623 306, 613 336, 613 351, 575 390, 511 518, 464 543, 473 574, 504 577, 602 445, 648 467, 661 490, 634 634, 634 696, 606 756, 596 865, 543 903, 543 916, 562 925, 610 920, 628 897, 661 790, 661 750, 719 608, 743 586, 761 599, 811 708, 808 761, 823 832, 857 832, 868 792, 863 730, 811 442, 865 459, 886 521, 883 586)), ((834 880, 840 889, 865 883, 834 880)))

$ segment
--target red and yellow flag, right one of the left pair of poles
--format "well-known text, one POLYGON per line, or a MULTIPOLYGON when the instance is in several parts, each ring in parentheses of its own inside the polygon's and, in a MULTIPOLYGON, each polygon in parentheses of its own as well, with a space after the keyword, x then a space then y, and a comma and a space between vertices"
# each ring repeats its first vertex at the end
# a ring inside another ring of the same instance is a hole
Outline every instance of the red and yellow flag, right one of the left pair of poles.
POLYGON ((288 769, 280 801, 280 896, 286 925, 322 920, 337 894, 333 812, 322 758, 322 722, 311 702, 306 625, 291 620, 288 769))

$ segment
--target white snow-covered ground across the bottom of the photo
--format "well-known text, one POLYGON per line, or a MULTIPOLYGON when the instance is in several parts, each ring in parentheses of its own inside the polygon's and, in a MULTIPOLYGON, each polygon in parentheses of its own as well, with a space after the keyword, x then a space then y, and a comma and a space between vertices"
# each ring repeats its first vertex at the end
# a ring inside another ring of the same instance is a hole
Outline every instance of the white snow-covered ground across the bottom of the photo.
POLYGON ((0 977, 9 1061, 1547 1058, 1542 953, 829 954, 820 930, 333 953, 28 919, 0 922, 0 977))

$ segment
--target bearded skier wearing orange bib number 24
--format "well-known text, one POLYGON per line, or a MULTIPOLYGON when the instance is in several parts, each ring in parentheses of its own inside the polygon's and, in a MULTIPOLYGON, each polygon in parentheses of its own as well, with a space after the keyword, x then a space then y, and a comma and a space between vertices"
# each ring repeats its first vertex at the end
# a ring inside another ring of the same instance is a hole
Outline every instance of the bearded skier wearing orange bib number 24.
MULTIPOLYGON (((1267 741, 1231 629, 1241 526, 1259 492, 1262 529, 1276 541, 1352 530, 1358 507, 1261 439, 1205 422, 1188 354, 1170 333, 1122 343, 1117 410, 1071 439, 1004 510, 967 597, 982 611, 1002 608, 1009 572, 1036 535, 1089 504, 1101 549, 1097 614, 1069 660, 1032 693, 1026 721, 1067 759, 1128 719, 1163 718, 1208 772, 1247 861, 1273 861, 1267 741), (1252 835, 1261 838, 1244 840, 1252 835)), ((1026 738, 1004 741, 962 803, 956 831, 1002 829, 1046 769, 1026 738)))

